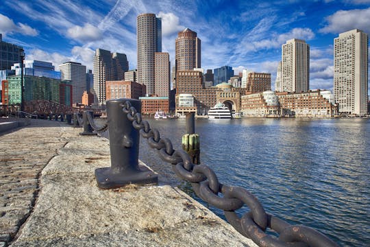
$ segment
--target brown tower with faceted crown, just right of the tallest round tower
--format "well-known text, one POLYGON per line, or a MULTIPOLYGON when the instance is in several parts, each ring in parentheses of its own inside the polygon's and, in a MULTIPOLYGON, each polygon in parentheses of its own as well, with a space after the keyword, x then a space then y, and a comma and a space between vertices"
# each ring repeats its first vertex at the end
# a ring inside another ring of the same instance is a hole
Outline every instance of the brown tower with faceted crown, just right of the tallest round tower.
POLYGON ((176 71, 201 67, 201 40, 197 33, 186 28, 177 34, 175 41, 176 71))

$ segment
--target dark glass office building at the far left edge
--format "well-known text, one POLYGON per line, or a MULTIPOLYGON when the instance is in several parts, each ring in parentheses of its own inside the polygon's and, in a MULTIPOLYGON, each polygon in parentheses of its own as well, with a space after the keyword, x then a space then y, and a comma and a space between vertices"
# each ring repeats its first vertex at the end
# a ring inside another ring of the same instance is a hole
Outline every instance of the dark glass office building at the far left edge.
POLYGON ((0 34, 0 70, 10 69, 13 64, 21 62, 21 49, 3 41, 3 34, 0 34))

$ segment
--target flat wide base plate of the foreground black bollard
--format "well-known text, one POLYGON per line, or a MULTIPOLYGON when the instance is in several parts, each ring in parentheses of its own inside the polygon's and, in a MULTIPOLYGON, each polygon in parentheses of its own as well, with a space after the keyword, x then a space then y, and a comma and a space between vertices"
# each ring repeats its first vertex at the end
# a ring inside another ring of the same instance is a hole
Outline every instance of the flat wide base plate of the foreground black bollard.
POLYGON ((114 173, 111 167, 95 169, 95 178, 100 189, 115 189, 125 185, 157 184, 158 175, 151 170, 139 170, 127 173, 114 173))

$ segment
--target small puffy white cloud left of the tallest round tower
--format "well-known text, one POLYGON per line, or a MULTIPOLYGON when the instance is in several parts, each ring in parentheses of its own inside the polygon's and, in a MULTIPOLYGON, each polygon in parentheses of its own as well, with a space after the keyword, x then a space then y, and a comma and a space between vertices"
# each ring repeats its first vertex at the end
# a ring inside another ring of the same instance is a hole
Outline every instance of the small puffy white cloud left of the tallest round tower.
POLYGON ((99 40, 99 38, 101 38, 102 36, 101 30, 91 25, 90 23, 86 23, 84 27, 75 25, 74 27, 69 28, 69 30, 67 31, 67 35, 70 38, 81 42, 99 40))

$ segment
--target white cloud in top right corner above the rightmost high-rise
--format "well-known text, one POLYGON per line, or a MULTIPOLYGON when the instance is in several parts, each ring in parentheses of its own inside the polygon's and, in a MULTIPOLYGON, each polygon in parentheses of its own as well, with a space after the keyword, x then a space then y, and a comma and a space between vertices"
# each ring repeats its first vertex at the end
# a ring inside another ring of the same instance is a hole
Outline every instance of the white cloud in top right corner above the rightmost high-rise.
POLYGON ((359 29, 370 33, 370 8, 364 10, 339 10, 325 18, 328 25, 319 32, 337 34, 359 29))

